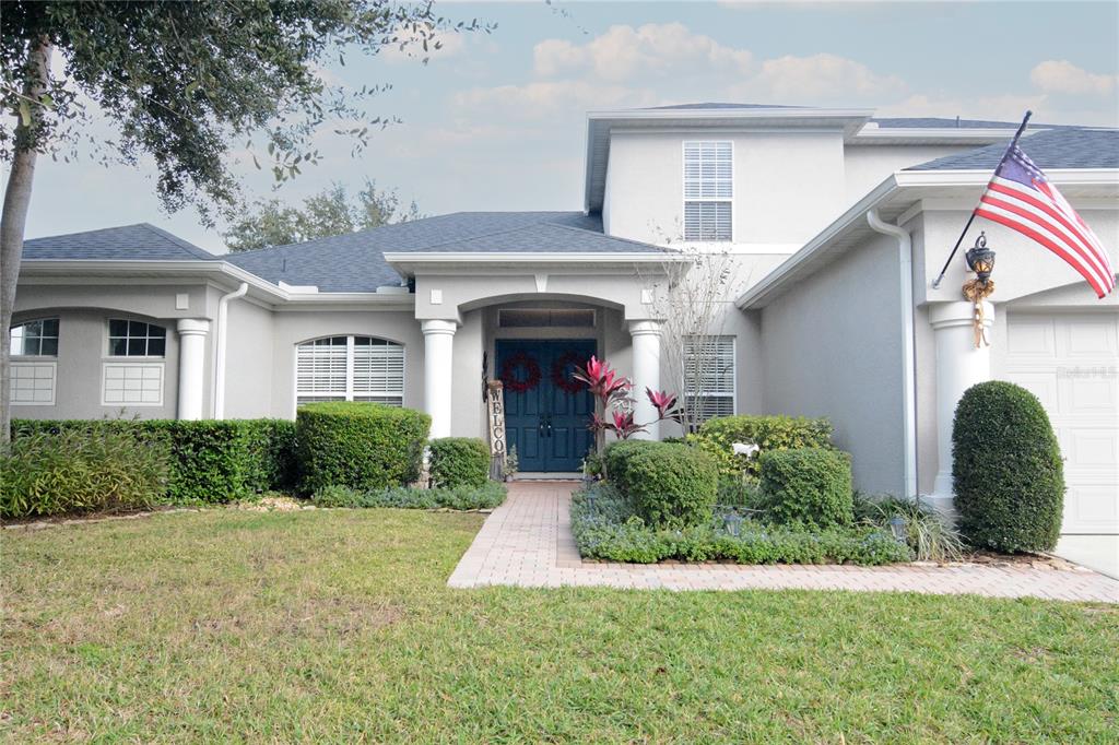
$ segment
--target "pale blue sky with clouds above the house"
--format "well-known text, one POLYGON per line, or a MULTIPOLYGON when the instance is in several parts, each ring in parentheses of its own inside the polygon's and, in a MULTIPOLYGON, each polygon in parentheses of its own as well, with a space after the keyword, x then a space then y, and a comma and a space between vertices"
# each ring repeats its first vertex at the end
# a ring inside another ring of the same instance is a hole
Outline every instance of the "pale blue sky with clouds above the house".
MULTIPOLYGON (((253 198, 298 204, 366 178, 421 211, 582 209, 586 112, 689 102, 871 107, 1119 126, 1116 2, 436 2, 492 34, 442 37, 426 65, 392 50, 321 70, 391 83, 402 120, 355 157, 326 125, 322 161, 275 188, 243 152, 253 198)), ((156 171, 41 159, 27 237, 152 223, 214 253, 222 225, 164 213, 156 171)), ((6 175, 4 175, 6 178, 6 175)))

